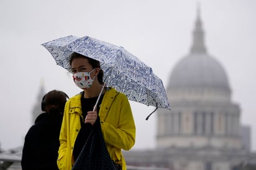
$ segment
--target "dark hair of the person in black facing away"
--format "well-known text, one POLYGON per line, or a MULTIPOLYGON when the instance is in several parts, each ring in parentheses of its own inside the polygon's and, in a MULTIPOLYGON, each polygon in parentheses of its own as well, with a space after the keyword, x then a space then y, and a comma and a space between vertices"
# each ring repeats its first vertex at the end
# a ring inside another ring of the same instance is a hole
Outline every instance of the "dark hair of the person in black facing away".
POLYGON ((67 98, 69 98, 68 95, 63 91, 49 91, 45 96, 43 96, 42 110, 50 114, 54 114, 56 112, 62 114, 64 112, 67 98))

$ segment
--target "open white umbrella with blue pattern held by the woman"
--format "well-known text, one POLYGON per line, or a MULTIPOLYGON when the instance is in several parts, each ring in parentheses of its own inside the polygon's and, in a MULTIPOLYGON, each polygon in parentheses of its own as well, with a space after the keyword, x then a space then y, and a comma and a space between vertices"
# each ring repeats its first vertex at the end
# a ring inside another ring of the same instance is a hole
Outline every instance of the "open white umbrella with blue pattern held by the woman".
POLYGON ((170 110, 162 80, 153 74, 152 68, 123 47, 88 36, 80 38, 73 35, 42 45, 50 51, 57 65, 68 71, 70 56, 74 52, 98 60, 107 86, 126 94, 131 101, 170 110))

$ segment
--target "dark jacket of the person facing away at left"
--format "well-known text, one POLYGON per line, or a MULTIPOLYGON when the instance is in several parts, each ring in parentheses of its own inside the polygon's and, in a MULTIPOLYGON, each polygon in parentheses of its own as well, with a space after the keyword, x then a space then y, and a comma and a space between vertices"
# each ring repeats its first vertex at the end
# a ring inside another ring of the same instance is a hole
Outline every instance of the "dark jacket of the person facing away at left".
POLYGON ((40 114, 25 136, 21 166, 29 169, 58 169, 59 136, 63 115, 40 114))

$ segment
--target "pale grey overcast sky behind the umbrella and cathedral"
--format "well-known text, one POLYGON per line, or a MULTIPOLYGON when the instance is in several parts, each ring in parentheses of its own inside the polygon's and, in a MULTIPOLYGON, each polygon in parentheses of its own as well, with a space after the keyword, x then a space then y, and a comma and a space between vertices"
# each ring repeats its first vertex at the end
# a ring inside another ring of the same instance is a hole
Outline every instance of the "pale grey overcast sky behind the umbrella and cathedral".
MULTIPOLYGON (((41 43, 88 35, 120 45, 152 67, 167 87, 173 66, 190 50, 198 3, 208 53, 226 70, 232 101, 240 105, 240 122, 252 127, 256 150, 255 0, 1 0, 1 148, 23 145, 42 79, 45 91, 80 92, 41 43)), ((154 108, 131 105, 134 149, 155 147, 157 114, 145 120, 154 108)))

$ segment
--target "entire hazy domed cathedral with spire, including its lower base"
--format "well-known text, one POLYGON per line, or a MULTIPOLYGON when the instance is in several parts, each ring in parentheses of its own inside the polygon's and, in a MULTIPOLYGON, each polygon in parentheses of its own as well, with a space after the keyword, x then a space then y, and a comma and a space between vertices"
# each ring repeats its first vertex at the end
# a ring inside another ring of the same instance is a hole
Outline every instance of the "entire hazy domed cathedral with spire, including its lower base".
POLYGON ((247 165, 254 164, 256 169, 250 129, 240 125, 231 94, 224 67, 205 46, 198 8, 190 53, 170 74, 171 111, 158 109, 157 147, 124 152, 127 164, 171 170, 250 169, 247 165))

